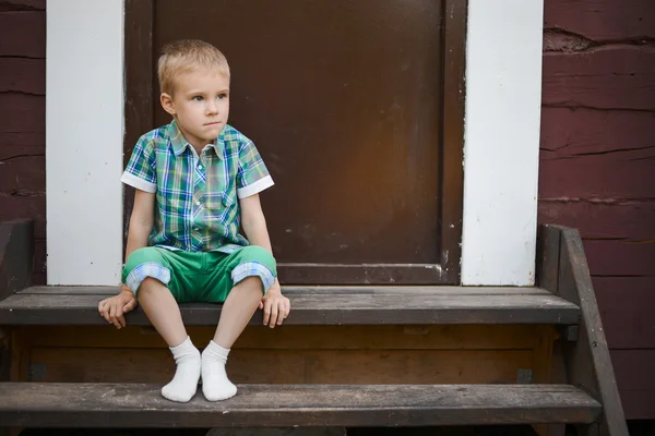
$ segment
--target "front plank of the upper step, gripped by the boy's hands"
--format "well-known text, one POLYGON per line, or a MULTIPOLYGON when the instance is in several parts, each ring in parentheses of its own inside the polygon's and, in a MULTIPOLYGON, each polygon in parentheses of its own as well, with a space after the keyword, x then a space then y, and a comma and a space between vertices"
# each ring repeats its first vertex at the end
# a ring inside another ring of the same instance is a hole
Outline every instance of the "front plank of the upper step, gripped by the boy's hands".
MULTIPOLYGON (((16 294, 0 302, 2 325, 104 325, 103 295, 16 294)), ((579 310, 555 295, 334 294, 293 295, 287 325, 576 324, 579 310)), ((213 326, 219 305, 181 307, 188 325, 213 326)), ((129 325, 150 325, 138 307, 129 325)), ((251 324, 261 324, 262 313, 251 324)))

